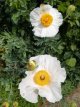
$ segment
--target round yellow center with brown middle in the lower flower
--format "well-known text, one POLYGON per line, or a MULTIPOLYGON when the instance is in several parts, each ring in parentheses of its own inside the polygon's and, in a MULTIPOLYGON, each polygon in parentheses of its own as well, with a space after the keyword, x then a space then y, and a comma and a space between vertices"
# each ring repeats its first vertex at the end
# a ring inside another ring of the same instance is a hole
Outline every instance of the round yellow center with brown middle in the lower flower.
POLYGON ((44 86, 50 83, 51 77, 46 70, 40 70, 35 74, 33 79, 36 84, 44 86))

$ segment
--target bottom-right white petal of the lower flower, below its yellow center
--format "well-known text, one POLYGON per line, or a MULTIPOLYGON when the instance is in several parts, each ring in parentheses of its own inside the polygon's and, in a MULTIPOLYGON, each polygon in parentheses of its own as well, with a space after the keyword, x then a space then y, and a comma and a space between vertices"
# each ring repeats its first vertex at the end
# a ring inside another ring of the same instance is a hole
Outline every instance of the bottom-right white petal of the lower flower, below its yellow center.
POLYGON ((45 97, 49 102, 55 103, 62 99, 61 85, 53 83, 50 86, 45 86, 39 89, 39 95, 45 97))

